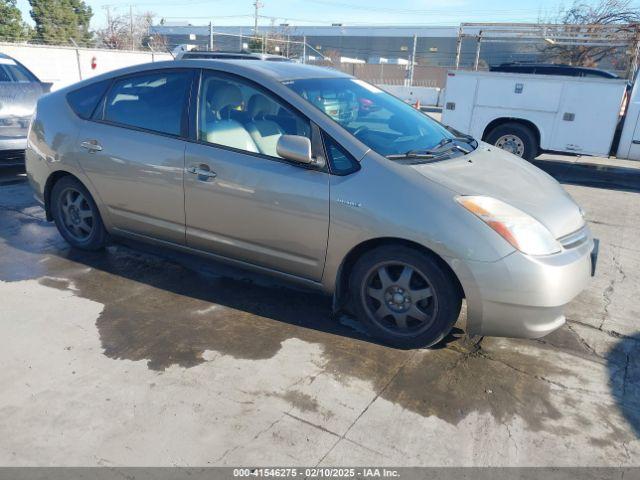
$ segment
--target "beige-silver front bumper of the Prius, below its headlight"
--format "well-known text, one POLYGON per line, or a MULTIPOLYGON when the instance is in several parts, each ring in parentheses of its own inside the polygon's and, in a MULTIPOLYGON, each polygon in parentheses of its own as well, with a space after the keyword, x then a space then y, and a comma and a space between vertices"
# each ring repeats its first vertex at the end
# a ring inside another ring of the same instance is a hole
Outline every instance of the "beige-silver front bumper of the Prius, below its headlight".
POLYGON ((598 242, 591 237, 555 255, 513 252, 496 262, 452 261, 467 299, 471 334, 539 338, 565 323, 565 306, 595 272, 598 242))

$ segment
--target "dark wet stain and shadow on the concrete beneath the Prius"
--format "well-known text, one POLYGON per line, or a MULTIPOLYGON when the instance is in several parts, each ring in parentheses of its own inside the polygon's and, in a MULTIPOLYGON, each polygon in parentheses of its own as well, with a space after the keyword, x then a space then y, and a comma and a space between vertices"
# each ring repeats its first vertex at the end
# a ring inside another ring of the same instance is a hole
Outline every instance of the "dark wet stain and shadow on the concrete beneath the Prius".
MULTIPOLYGON (((322 346, 328 374, 371 382, 382 398, 421 416, 451 424, 471 412, 502 422, 518 416, 532 430, 553 428, 561 417, 544 376, 566 372, 544 358, 515 351, 388 348, 333 319, 331 299, 315 292, 216 265, 196 271, 189 265, 201 260, 128 246, 78 252, 37 216, 1 209, 0 214, 0 279, 35 278, 103 304, 96 327, 104 355, 114 360, 145 361, 157 371, 199 365, 206 351, 261 360, 275 356, 283 341, 298 338, 322 346), (30 241, 33 235, 45 240, 30 241)), ((579 348, 574 340, 561 341, 567 342, 579 348)), ((301 410, 318 408, 301 392, 283 398, 301 410)))

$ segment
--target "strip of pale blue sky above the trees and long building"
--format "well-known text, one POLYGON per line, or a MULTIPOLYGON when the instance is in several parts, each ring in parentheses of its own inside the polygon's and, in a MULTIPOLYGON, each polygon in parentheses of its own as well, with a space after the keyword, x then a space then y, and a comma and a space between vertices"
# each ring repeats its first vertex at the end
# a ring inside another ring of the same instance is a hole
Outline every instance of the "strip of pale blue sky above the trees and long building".
MULTIPOLYGON (((154 12, 156 21, 194 25, 253 25, 253 0, 85 0, 93 9, 92 27, 111 13, 154 12)), ((535 22, 553 18, 571 0, 262 0, 260 25, 458 25, 460 22, 535 22)), ((640 4, 640 0, 634 0, 640 4)), ((29 23, 29 2, 18 0, 29 23)))

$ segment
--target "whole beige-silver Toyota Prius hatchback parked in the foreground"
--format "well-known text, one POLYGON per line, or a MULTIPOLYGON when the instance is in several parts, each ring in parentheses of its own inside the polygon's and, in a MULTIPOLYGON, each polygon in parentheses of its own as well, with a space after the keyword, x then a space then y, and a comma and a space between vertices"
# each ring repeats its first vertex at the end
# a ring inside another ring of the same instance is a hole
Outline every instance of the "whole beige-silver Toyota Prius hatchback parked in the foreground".
POLYGON ((371 335, 536 338, 595 268, 547 174, 349 75, 286 62, 130 67, 38 102, 27 172, 74 248, 129 237, 333 295, 371 335))

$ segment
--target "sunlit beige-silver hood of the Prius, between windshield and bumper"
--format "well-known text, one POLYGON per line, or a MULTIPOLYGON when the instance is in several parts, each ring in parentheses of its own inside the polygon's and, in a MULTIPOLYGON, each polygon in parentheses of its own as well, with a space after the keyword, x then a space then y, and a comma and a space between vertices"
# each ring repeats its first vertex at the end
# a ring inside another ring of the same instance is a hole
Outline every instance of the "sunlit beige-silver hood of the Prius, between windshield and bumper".
POLYGON ((536 218, 556 237, 584 225, 580 208, 551 176, 497 147, 480 143, 467 155, 411 168, 460 195, 486 195, 536 218))

